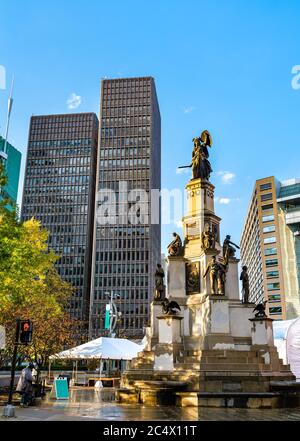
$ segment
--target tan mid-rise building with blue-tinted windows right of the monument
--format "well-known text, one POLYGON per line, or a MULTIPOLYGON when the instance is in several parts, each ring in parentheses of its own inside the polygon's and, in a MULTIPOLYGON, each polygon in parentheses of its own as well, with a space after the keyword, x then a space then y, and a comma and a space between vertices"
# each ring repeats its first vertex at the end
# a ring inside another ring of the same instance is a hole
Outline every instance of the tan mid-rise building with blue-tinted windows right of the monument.
POLYGON ((277 320, 300 315, 300 180, 256 181, 241 238, 250 301, 277 320))

